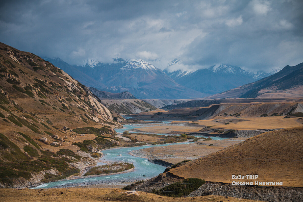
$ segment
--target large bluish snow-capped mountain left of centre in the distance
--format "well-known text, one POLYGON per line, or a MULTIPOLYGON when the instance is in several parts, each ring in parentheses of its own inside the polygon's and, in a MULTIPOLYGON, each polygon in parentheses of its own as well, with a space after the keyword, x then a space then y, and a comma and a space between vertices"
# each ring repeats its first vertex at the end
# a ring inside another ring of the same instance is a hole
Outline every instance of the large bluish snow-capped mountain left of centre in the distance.
MULTIPOLYGON (((92 86, 98 90, 120 93, 128 91, 141 99, 177 99, 199 98, 205 94, 191 90, 177 84, 163 71, 143 60, 125 60, 114 58, 113 63, 85 61, 84 65, 74 65, 81 74, 76 73, 73 77, 81 82, 83 73, 93 81, 102 83, 92 86), (105 86, 108 87, 105 87, 105 86)), ((60 64, 58 67, 61 68, 60 64)), ((66 69, 72 71, 72 69, 66 69)), ((71 72, 72 73, 72 72, 71 72)))

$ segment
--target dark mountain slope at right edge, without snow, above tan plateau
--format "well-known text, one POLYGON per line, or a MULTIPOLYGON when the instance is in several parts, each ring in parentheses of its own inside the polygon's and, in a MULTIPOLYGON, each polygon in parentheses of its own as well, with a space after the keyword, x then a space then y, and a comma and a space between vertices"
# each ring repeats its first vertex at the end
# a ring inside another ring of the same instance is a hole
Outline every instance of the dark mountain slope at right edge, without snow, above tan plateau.
POLYGON ((303 97, 303 63, 285 66, 274 75, 259 81, 209 96, 216 98, 303 97))

